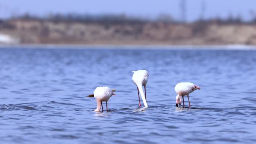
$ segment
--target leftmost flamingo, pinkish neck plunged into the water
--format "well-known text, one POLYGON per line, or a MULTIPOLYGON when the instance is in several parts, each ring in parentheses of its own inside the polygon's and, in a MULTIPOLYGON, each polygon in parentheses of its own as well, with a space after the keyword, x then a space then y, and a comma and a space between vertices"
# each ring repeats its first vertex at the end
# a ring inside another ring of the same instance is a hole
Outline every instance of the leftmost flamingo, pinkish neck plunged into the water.
POLYGON ((109 100, 109 98, 112 95, 115 95, 115 94, 113 94, 113 91, 109 87, 107 87, 107 86, 97 87, 94 90, 93 94, 94 94, 94 97, 95 97, 95 99, 97 101, 97 108, 94 111, 100 111, 100 106, 102 107, 102 111, 103 111, 102 102, 106 101, 106 106, 107 106, 107 101, 109 100))

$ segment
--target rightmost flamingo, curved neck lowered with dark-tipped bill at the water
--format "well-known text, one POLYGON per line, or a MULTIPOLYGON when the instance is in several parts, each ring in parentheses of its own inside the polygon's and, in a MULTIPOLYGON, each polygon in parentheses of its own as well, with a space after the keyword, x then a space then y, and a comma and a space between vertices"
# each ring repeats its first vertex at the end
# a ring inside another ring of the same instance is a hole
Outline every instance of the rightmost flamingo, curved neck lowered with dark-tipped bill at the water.
MULTIPOLYGON (((201 89, 200 86, 197 86, 193 83, 178 83, 175 86, 175 92, 177 93, 176 96, 176 107, 178 107, 178 103, 179 105, 181 104, 181 96, 182 96, 182 101, 183 101, 183 107, 185 106, 184 104, 184 95, 188 96, 188 101, 189 101, 189 94, 193 91, 195 91, 196 89, 201 89)), ((189 102, 189 107, 191 107, 190 102, 189 102)))

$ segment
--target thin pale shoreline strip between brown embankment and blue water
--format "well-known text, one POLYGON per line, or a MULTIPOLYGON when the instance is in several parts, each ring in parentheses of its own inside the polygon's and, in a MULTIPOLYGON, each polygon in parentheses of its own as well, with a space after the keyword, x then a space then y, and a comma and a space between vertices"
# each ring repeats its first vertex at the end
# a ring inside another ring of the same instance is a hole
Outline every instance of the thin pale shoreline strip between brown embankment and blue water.
POLYGON ((147 49, 147 50, 256 50, 256 45, 76 45, 76 44, 18 44, 0 48, 27 49, 147 49))

